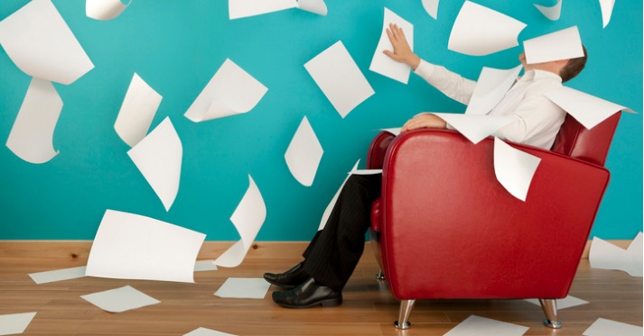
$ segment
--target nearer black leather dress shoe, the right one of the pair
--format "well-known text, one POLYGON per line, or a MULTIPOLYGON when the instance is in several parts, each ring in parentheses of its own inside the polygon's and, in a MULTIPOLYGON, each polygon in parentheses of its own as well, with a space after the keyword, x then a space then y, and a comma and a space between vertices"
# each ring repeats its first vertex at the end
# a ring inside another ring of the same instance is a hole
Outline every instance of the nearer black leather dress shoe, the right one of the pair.
POLYGON ((313 277, 288 292, 273 292, 273 301, 286 308, 332 307, 342 304, 342 292, 315 284, 313 277))

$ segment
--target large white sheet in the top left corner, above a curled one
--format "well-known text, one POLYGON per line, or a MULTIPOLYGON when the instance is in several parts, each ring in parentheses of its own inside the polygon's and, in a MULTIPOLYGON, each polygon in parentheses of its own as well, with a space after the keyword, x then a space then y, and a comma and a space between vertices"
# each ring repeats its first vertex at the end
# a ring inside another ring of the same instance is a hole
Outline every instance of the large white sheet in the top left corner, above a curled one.
POLYGON ((25 74, 71 84, 94 68, 50 0, 33 0, 0 22, 0 44, 25 74))

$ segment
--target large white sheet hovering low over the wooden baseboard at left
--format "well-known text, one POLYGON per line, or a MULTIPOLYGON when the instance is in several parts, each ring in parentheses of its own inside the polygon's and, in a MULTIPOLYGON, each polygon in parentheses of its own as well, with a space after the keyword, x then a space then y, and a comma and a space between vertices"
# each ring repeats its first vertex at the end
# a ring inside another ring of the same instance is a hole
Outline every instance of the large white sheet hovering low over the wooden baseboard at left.
POLYGON ((206 235, 134 213, 107 210, 89 251, 89 277, 194 282, 206 235))

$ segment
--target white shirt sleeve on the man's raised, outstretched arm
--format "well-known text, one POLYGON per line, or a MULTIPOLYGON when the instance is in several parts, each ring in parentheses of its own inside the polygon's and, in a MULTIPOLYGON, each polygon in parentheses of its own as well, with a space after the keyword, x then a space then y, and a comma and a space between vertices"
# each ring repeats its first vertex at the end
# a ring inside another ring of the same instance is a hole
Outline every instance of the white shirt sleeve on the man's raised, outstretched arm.
POLYGON ((474 86, 476 86, 475 81, 464 78, 447 68, 429 63, 424 59, 420 60, 420 64, 418 64, 414 72, 444 95, 462 104, 470 103, 471 95, 474 93, 474 86))

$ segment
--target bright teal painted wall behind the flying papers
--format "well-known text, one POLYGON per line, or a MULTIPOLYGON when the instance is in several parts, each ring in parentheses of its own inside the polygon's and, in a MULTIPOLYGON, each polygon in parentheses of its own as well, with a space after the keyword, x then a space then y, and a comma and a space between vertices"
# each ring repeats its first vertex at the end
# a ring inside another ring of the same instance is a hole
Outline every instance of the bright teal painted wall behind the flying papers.
MULTIPOLYGON (((567 85, 643 111, 641 1, 617 1, 605 29, 598 1, 565 0, 556 22, 532 1, 475 2, 527 23, 519 41, 578 25, 590 58, 583 74, 567 85)), ((3 0, 0 19, 26 3, 3 0)), ((369 71, 385 6, 415 25, 415 51, 422 58, 465 77, 475 79, 483 66, 514 67, 522 50, 519 45, 485 57, 447 50, 462 0, 443 0, 438 20, 425 13, 420 0, 326 0, 325 17, 291 9, 233 21, 226 0, 134 0, 107 22, 88 18, 84 1, 53 3, 96 68, 70 86, 54 84, 64 102, 53 138, 58 156, 34 165, 0 147, 3 240, 90 240, 106 209, 172 222, 207 233, 210 241, 238 240, 229 217, 250 174, 267 208, 257 240, 307 241, 346 172, 357 159, 364 161, 379 128, 399 126, 422 111, 464 111, 415 75, 403 85, 369 71), (339 40, 376 91, 345 119, 303 67, 339 40), (183 114, 227 58, 268 92, 247 114, 192 123, 183 114), (114 131, 134 72, 163 95, 151 130, 169 116, 182 140, 181 186, 169 212, 114 131), (284 159, 304 115, 324 149, 309 187, 294 179, 284 159)), ((0 69, 4 144, 31 78, 5 50, 0 51, 0 69)), ((632 239, 642 230, 642 114, 623 115, 607 167, 611 185, 593 235, 632 239)))

